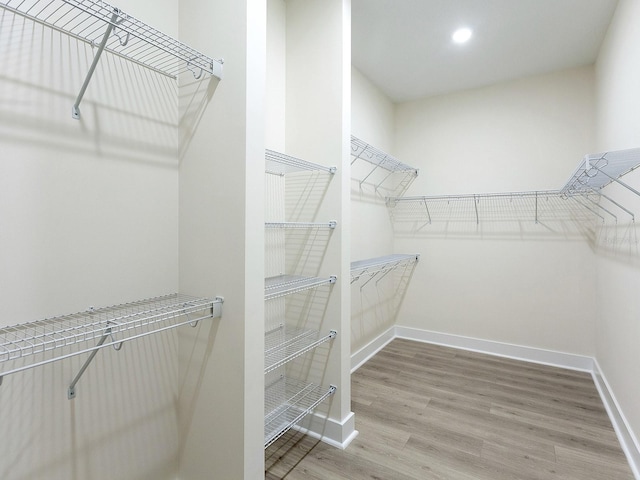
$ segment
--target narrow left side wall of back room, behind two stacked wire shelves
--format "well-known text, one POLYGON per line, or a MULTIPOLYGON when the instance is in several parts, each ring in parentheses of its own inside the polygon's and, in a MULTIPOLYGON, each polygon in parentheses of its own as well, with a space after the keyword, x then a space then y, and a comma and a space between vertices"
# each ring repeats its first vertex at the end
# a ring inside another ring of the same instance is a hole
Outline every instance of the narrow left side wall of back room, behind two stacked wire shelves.
MULTIPOLYGON (((351 68, 351 127, 354 136, 392 154, 395 135, 393 103, 356 68, 351 68)), ((351 174, 352 260, 393 253, 393 228, 384 198, 369 183, 360 184, 371 164, 354 161, 351 174)), ((395 323, 398 307, 394 275, 351 285, 351 350, 355 352, 395 323)))

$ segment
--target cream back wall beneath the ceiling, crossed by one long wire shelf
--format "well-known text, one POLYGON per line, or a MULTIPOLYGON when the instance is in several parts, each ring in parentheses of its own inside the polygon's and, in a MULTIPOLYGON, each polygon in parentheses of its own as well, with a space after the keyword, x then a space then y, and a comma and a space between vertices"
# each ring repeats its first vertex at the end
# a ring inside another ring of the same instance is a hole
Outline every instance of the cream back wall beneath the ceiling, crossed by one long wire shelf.
MULTIPOLYGON (((420 168, 408 195, 560 188, 593 148, 593 84, 580 68, 398 105, 395 151, 420 168)), ((593 355, 593 252, 524 223, 394 224, 396 252, 421 254, 398 324, 593 355)))

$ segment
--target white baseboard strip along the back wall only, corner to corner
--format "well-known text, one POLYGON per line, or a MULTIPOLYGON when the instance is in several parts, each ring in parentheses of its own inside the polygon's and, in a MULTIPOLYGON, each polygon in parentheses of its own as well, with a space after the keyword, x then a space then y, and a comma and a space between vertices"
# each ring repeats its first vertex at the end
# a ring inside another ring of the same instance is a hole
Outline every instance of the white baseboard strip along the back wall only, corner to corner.
POLYGON ((396 338, 434 343, 445 347, 460 348, 472 352, 486 353, 499 357, 513 358, 527 362, 540 363, 553 367, 568 368, 583 372, 593 371, 593 358, 586 355, 556 352, 541 348, 525 347, 510 343, 494 342, 480 338, 463 337, 449 333, 432 332, 417 328, 396 326, 396 338))

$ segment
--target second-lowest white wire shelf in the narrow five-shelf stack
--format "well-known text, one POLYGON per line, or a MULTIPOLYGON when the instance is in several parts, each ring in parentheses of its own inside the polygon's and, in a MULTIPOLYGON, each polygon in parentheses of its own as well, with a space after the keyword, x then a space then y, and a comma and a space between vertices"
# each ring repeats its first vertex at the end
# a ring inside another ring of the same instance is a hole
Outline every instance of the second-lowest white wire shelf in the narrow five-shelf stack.
POLYGON ((290 328, 286 325, 265 335, 264 373, 267 374, 291 360, 313 350, 338 335, 335 330, 320 337, 317 330, 290 328))

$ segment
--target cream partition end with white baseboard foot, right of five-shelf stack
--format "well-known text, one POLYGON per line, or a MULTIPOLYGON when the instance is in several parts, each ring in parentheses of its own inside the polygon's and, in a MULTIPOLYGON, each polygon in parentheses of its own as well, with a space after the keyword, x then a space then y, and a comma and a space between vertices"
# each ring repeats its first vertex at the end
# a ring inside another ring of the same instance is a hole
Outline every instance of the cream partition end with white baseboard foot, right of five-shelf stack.
POLYGON ((311 428, 328 441, 345 446, 355 432, 349 377, 350 1, 288 1, 286 27, 286 151, 338 167, 318 212, 318 219, 331 218, 338 223, 320 272, 321 276, 338 276, 323 325, 323 330, 338 331, 325 375, 325 383, 335 384, 338 390, 328 420, 312 422, 311 428))

